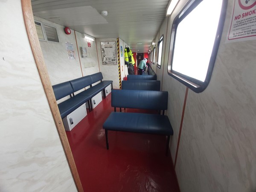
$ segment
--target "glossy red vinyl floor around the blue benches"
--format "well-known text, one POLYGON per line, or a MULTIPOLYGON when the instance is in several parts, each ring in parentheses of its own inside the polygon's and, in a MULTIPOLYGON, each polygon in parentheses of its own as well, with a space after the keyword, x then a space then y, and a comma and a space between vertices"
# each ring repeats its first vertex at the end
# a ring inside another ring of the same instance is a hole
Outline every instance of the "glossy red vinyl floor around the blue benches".
POLYGON ((179 192, 165 136, 108 131, 107 150, 102 125, 113 110, 109 94, 66 131, 84 192, 179 192))

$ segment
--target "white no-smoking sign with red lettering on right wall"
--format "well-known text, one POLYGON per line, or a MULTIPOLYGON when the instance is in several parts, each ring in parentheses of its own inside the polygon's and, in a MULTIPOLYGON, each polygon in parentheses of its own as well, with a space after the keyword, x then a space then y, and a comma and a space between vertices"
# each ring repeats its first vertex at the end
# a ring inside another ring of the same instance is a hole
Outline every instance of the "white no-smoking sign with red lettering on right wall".
POLYGON ((226 43, 256 39, 256 0, 235 0, 226 43))

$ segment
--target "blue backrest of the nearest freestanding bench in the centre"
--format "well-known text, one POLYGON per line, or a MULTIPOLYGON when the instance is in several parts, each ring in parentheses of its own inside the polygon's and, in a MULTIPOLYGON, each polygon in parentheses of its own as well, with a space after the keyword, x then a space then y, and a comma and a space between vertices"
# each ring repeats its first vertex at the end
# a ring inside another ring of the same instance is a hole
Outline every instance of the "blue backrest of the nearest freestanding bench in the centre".
POLYGON ((111 106, 115 108, 166 110, 167 91, 112 90, 111 106))

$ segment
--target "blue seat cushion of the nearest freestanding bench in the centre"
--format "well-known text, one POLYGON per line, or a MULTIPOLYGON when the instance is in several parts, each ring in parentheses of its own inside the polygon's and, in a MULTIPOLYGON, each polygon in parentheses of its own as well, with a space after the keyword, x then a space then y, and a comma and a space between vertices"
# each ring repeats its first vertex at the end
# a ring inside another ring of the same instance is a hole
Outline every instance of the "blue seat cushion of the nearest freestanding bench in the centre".
POLYGON ((168 116, 158 114, 111 112, 103 128, 111 131, 173 135, 168 116))

